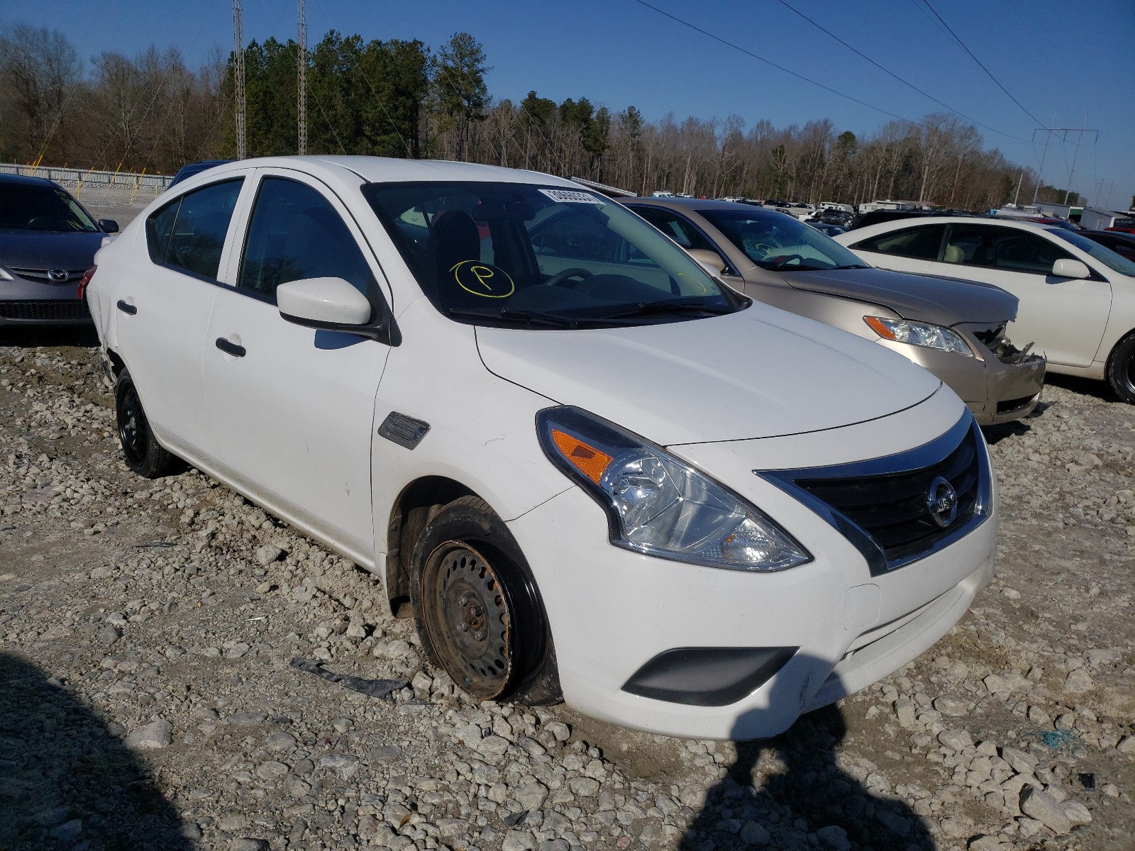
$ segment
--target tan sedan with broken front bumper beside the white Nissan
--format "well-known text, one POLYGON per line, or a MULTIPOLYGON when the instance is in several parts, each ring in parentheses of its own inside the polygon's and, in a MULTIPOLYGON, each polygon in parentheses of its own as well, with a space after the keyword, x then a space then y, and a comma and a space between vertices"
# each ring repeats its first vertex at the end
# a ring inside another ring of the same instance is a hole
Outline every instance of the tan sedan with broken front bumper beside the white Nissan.
POLYGON ((1043 357, 1006 337, 1017 297, 1000 287, 876 269, 815 228, 728 201, 621 199, 734 289, 873 339, 926 368, 983 426, 1040 401, 1043 357))

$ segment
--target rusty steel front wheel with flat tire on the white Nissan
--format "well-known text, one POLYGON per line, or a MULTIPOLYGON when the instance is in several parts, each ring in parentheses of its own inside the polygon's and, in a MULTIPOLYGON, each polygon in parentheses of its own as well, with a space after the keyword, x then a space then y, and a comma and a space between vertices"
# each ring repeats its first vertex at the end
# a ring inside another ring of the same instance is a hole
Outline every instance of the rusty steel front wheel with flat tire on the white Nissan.
POLYGON ((478 497, 427 524, 412 559, 418 634, 435 665, 481 700, 561 700, 555 651, 528 563, 478 497))

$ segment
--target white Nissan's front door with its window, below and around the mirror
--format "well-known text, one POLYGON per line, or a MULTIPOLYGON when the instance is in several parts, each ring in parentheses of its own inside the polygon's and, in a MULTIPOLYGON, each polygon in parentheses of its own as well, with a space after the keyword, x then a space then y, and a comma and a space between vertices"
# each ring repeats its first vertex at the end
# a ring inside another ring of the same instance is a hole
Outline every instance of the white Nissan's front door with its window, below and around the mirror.
POLYGON ((389 349, 285 321, 276 287, 337 277, 376 309, 384 296, 358 226, 329 189, 283 169, 259 176, 233 286, 217 293, 205 347, 218 457, 260 502, 370 566, 370 441, 389 349))

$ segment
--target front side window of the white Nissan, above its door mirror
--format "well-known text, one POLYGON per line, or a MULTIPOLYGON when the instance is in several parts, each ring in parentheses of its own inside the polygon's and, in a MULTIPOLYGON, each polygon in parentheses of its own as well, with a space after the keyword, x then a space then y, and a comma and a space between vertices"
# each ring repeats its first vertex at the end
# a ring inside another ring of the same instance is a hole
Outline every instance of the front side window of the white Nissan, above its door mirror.
POLYGON ((276 287, 304 278, 343 278, 363 295, 377 287, 359 244, 326 197, 305 184, 266 177, 237 287, 275 302, 276 287))

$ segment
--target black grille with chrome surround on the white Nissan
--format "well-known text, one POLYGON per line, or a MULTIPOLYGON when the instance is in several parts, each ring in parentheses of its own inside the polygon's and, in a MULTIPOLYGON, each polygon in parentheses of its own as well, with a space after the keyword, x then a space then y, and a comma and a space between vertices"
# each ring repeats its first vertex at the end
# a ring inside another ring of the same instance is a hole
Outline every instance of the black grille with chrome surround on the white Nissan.
POLYGON ((843 532, 877 575, 930 555, 985 519, 991 480, 983 441, 967 414, 939 439, 907 453, 762 475, 843 532), (957 514, 944 526, 930 508, 931 489, 940 478, 957 497, 957 514))

